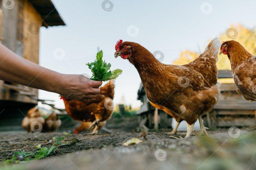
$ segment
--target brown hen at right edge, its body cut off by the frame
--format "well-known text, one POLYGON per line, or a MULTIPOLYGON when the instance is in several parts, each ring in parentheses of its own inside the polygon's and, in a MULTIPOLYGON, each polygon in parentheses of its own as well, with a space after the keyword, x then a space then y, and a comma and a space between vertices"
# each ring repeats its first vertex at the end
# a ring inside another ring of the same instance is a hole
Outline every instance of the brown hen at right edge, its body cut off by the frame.
POLYGON ((234 40, 222 43, 222 53, 229 57, 237 93, 246 100, 256 101, 256 56, 234 40))

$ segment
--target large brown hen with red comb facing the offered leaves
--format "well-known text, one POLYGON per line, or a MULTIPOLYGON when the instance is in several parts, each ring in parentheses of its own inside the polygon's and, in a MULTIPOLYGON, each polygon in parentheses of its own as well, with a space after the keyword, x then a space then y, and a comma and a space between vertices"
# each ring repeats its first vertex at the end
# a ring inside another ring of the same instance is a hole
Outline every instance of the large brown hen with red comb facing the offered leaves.
POLYGON ((201 115, 212 110, 220 99, 220 83, 215 78, 219 47, 220 42, 215 38, 197 59, 180 66, 162 64, 140 44, 119 40, 115 57, 120 55, 135 66, 149 101, 166 107, 174 117, 189 124, 188 137, 197 119, 198 135, 207 133, 201 115))

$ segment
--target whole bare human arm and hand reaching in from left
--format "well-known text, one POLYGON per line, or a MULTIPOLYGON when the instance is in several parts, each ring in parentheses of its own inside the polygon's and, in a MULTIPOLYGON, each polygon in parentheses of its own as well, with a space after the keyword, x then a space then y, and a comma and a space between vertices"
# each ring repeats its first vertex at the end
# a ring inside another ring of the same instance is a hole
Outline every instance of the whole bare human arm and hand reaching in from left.
POLYGON ((0 79, 58 93, 66 98, 88 101, 100 93, 101 81, 86 79, 81 75, 61 74, 28 61, 0 43, 0 79))

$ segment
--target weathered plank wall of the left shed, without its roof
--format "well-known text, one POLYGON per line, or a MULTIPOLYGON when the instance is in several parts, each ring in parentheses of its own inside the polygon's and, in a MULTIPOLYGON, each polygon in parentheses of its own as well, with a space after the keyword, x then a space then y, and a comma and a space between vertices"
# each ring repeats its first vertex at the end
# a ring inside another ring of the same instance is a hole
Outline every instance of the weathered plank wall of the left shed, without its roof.
MULTIPOLYGON (((41 16, 27 0, 16 0, 13 9, 6 9, 2 6, 2 11, 3 45, 19 56, 39 64, 39 31, 42 26, 41 16)), ((34 97, 38 97, 37 89, 0 80, 0 102, 1 100, 10 100, 24 103, 37 103, 37 101, 19 94, 20 92, 17 93, 10 88, 11 86, 17 87, 17 89, 20 89, 23 93, 34 94, 34 97)))

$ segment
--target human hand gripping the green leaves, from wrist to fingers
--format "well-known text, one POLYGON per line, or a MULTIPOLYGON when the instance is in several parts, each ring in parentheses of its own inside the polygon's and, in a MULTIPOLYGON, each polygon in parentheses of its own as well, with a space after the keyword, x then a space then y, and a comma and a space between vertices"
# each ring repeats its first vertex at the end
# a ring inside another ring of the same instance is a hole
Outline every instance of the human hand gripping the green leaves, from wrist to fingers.
POLYGON ((101 92, 101 85, 101 81, 93 81, 83 75, 62 74, 56 93, 68 99, 88 101, 101 92))

